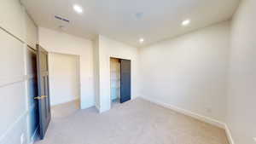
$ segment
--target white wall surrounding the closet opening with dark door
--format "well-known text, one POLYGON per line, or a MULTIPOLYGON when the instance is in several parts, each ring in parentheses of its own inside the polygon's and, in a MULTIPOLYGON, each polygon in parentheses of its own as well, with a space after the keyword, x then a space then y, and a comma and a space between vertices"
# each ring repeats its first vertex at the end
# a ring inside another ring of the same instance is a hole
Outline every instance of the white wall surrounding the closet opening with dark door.
POLYGON ((98 37, 98 71, 100 112, 108 111, 111 107, 110 94, 110 57, 131 60, 131 99, 138 96, 138 53, 137 48, 124 43, 119 43, 108 37, 100 35, 98 37))

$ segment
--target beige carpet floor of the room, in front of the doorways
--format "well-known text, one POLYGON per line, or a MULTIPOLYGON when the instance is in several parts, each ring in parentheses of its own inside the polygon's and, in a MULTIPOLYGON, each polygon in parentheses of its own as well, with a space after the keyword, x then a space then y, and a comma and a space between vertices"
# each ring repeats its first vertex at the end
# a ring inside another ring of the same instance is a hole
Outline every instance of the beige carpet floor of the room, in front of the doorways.
POLYGON ((143 99, 53 118, 36 144, 228 144, 224 130, 143 99))

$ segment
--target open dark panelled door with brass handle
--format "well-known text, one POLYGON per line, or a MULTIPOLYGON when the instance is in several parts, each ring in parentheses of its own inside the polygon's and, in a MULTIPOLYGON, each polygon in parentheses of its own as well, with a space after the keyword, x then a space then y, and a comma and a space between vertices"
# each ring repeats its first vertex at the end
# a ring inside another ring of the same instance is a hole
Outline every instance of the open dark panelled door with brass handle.
POLYGON ((39 134, 41 140, 50 121, 49 104, 49 70, 48 70, 48 52, 37 45, 37 67, 38 67, 38 116, 39 116, 39 134))

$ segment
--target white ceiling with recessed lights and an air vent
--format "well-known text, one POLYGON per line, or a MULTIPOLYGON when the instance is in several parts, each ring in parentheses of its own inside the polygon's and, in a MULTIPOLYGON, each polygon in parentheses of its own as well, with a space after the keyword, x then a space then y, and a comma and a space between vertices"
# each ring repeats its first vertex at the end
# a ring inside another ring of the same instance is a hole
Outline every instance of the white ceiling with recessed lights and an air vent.
POLYGON ((168 37, 229 20, 240 0, 21 0, 38 26, 93 39, 96 34, 143 47, 168 37), (73 11, 73 4, 84 8, 73 11), (58 15, 70 20, 55 20, 58 15), (181 22, 190 19, 189 26, 181 22), (145 39, 139 43, 139 38, 145 39))

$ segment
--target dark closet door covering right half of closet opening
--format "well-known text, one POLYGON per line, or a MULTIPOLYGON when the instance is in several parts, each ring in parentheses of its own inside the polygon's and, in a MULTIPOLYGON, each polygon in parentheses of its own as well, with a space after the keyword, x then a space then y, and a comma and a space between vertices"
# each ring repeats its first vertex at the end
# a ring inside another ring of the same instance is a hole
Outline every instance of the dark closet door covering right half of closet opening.
POLYGON ((121 63, 121 94, 120 102, 131 100, 131 60, 120 60, 121 63))

